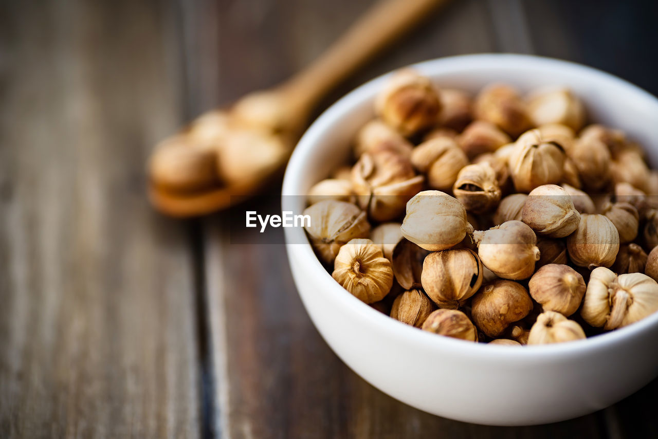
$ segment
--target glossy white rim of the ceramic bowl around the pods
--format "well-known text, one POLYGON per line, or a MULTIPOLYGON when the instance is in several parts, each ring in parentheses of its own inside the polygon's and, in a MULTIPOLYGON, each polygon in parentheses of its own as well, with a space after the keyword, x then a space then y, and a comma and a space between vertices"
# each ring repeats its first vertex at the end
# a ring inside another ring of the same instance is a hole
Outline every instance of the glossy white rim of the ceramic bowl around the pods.
MULTIPOLYGON (((421 63, 415 63, 409 67, 415 68, 423 74, 428 74, 428 76, 455 73, 469 68, 500 71, 509 70, 510 68, 523 68, 526 70, 540 69, 543 71, 547 69, 561 70, 567 74, 588 76, 596 82, 607 83, 609 86, 623 89, 628 99, 643 101, 644 105, 654 107, 658 114, 658 98, 651 95, 648 91, 642 90, 638 86, 622 80, 613 74, 570 61, 539 57, 536 55, 480 53, 431 59, 421 63)), ((315 122, 303 134, 291 155, 284 174, 282 210, 298 210, 295 209, 295 203, 292 200, 299 197, 291 197, 290 195, 301 195, 299 186, 301 184, 301 176, 303 175, 304 163, 314 155, 315 144, 320 134, 336 123, 336 120, 341 118, 345 113, 349 113, 351 109, 363 103, 363 101, 372 99, 382 87, 382 83, 386 81, 386 78, 393 71, 369 80, 365 84, 355 88, 355 90, 347 93, 347 95, 340 98, 318 116, 315 122)), ((290 262, 292 263, 292 259, 295 259, 295 261, 304 263, 305 269, 311 272, 311 276, 316 279, 316 282, 326 284, 326 288, 323 286, 317 289, 318 294, 324 294, 328 296, 326 299, 338 302, 340 307, 345 309, 346 314, 349 314, 349 317, 346 316, 347 318, 362 319, 364 324, 367 323, 376 326, 382 334, 386 334, 390 338, 404 339, 403 341, 405 343, 415 344, 424 349, 451 349, 451 351, 457 351, 465 357, 472 358, 480 358, 484 352, 488 358, 502 361, 509 359, 525 361, 533 359, 537 361, 545 361, 547 359, 564 360, 565 357, 581 357, 595 350, 613 348, 617 344, 626 343, 638 334, 649 330, 649 328, 658 326, 657 312, 636 323, 584 340, 524 346, 523 349, 519 349, 517 346, 489 346, 489 344, 465 342, 464 340, 457 340, 450 337, 437 337, 436 334, 430 334, 429 332, 392 319, 342 288, 332 278, 331 274, 324 269, 302 228, 285 228, 284 233, 286 236, 286 250, 288 251, 290 262), (295 244, 291 244, 291 242, 295 244)), ((304 301, 299 288, 297 290, 304 301)))

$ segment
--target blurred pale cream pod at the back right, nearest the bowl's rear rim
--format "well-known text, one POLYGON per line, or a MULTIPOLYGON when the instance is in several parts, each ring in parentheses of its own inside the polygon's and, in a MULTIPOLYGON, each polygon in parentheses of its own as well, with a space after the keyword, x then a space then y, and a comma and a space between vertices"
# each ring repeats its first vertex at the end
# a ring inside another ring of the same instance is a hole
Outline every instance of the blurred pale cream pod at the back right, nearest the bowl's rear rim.
POLYGON ((538 90, 528 100, 528 114, 536 125, 563 124, 580 130, 585 121, 585 107, 569 89, 538 90))

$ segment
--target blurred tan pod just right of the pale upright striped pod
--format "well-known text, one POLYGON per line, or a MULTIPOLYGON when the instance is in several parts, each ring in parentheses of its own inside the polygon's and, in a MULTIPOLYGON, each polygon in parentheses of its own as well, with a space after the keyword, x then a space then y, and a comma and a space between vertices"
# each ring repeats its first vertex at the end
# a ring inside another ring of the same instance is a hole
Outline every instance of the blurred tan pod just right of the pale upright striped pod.
POLYGON ((611 156, 605 143, 594 138, 578 139, 567 149, 567 157, 576 165, 583 186, 599 190, 610 178, 611 156))

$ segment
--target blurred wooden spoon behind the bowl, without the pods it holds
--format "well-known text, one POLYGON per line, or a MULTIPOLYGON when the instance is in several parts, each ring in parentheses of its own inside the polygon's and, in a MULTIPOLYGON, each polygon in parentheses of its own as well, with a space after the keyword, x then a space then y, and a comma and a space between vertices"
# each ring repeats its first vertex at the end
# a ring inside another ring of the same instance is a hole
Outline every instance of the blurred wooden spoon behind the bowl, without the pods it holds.
MULTIPOLYGON (((159 211, 173 217, 194 217, 225 209, 231 197, 254 194, 288 161, 295 140, 306 126, 318 101, 349 74, 411 29, 447 0, 383 0, 374 5, 314 63, 292 78, 265 91, 241 98, 228 111, 278 136, 286 147, 259 172, 244 172, 228 186, 179 191, 149 182, 149 199, 159 211)), ((185 131, 182 131, 185 136, 185 131)), ((245 145, 240 151, 246 151, 245 145)))

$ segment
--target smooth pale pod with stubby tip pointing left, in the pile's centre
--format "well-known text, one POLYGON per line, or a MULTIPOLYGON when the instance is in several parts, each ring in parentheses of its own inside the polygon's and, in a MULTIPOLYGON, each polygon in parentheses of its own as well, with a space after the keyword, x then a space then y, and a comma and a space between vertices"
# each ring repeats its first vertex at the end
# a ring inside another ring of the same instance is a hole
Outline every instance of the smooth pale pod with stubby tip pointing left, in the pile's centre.
POLYGON ((484 232, 474 232, 480 261, 504 279, 526 279, 532 276, 540 258, 537 237, 520 221, 507 221, 484 232))

